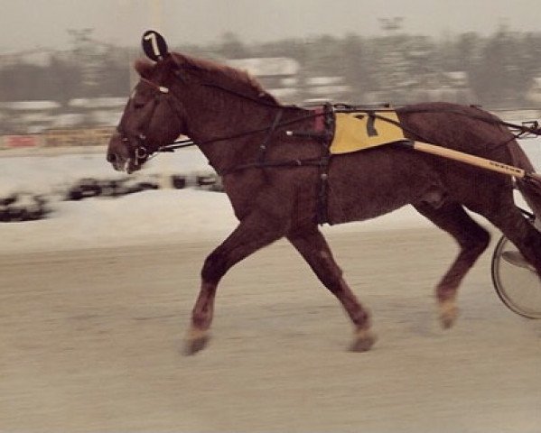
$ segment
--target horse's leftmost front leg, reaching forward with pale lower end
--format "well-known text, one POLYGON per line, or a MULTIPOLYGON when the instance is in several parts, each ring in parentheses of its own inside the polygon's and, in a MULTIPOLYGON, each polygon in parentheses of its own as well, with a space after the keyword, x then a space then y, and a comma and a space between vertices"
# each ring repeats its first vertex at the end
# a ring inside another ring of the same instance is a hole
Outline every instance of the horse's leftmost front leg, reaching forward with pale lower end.
POLYGON ((280 218, 252 214, 210 253, 201 270, 201 290, 191 312, 191 328, 185 342, 187 355, 199 352, 209 341, 214 298, 221 278, 235 263, 284 236, 285 226, 280 218))

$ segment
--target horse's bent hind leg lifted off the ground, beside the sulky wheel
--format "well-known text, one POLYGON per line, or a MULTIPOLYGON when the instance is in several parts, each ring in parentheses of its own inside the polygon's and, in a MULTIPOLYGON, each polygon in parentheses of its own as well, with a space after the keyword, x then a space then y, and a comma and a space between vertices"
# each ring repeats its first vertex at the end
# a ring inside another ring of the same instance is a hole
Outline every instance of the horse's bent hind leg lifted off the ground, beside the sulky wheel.
POLYGON ((444 203, 442 207, 430 204, 415 205, 424 217, 454 237, 460 253, 436 287, 440 321, 445 328, 452 327, 457 317, 455 298, 466 273, 490 243, 490 234, 477 224, 458 203, 444 203))

